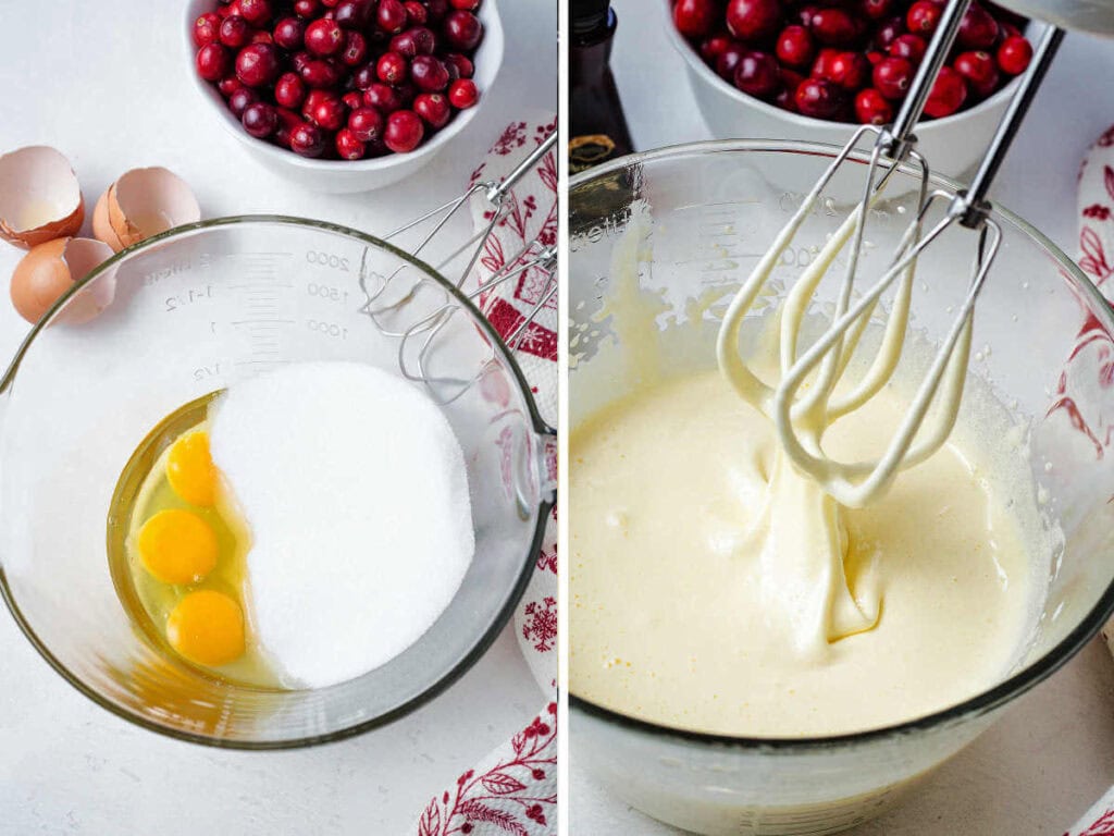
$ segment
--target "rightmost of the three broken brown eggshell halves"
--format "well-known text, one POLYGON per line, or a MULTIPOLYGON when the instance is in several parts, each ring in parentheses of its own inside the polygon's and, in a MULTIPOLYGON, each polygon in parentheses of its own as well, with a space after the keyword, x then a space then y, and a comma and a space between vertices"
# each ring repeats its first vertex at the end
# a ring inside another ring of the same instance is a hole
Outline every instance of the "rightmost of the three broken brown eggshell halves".
POLYGON ((108 222, 124 246, 201 221, 197 198, 178 175, 166 168, 133 168, 108 191, 108 222))

